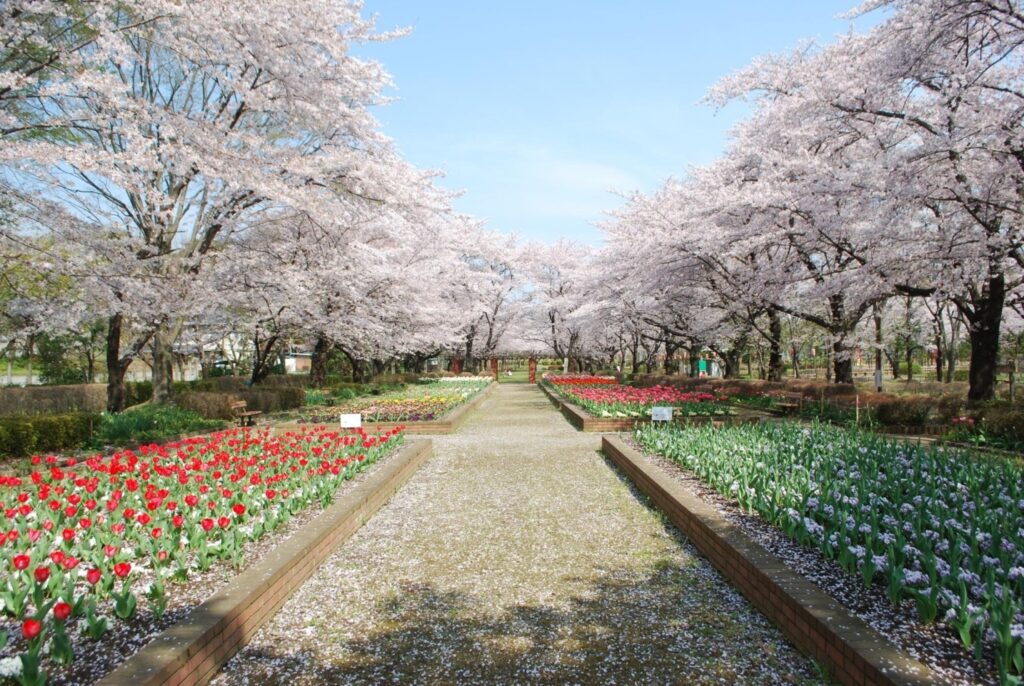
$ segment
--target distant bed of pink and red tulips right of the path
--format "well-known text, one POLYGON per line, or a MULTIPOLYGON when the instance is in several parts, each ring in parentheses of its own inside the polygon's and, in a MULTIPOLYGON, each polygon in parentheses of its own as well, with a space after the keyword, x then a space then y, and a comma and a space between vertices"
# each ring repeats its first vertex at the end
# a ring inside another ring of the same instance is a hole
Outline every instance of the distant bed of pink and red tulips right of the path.
POLYGON ((672 406, 677 417, 731 415, 727 397, 707 392, 685 392, 671 386, 634 388, 615 383, 611 377, 546 377, 545 382, 563 398, 593 417, 644 419, 650 409, 672 406), (611 383, 603 380, 610 379, 611 383))

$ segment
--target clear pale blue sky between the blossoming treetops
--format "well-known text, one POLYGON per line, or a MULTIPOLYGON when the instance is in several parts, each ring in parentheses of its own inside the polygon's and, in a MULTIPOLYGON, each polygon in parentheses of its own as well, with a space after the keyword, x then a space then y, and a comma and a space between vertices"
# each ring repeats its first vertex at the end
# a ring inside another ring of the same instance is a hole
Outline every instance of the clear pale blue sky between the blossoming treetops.
POLYGON ((359 53, 395 81, 385 132, 465 191, 458 210, 527 240, 596 244, 593 222, 621 203, 610 190, 653 190, 721 154, 746 108, 699 104, 709 87, 759 54, 835 40, 854 4, 367 0, 379 29, 413 32, 359 53))

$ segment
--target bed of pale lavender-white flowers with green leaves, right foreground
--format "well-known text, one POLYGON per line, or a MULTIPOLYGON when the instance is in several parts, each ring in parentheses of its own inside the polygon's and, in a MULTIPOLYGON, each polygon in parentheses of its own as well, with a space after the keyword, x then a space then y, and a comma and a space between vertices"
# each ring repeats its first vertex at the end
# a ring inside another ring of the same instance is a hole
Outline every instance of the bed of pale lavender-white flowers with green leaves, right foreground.
POLYGON ((895 606, 1024 672, 1024 482, 1009 461, 826 425, 644 427, 636 438, 895 606))

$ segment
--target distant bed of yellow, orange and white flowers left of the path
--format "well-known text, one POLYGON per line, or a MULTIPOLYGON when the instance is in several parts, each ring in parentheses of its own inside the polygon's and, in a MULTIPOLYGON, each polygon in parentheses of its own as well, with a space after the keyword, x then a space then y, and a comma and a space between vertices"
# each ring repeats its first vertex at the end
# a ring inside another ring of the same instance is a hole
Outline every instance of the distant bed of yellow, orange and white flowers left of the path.
POLYGON ((487 387, 489 377, 452 377, 400 391, 355 398, 331 409, 303 412, 301 423, 329 424, 338 415, 361 415, 364 422, 431 422, 468 402, 487 387))

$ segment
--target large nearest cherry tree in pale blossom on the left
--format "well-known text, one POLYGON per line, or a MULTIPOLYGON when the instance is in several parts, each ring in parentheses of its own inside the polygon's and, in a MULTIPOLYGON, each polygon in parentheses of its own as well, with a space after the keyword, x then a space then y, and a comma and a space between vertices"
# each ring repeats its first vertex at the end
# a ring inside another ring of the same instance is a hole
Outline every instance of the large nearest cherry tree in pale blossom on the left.
POLYGON ((130 316, 144 324, 129 361, 147 341, 154 397, 167 397, 184 326, 175 304, 218 242, 287 208, 329 220, 390 200, 395 158, 369 113, 387 77, 350 54, 390 36, 360 11, 343 0, 8 3, 0 182, 22 216, 34 211, 22 201, 44 197, 75 219, 43 222, 60 254, 91 255, 99 282, 119 275, 106 295, 112 387, 130 316))

